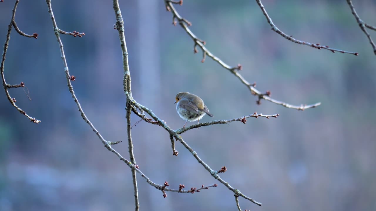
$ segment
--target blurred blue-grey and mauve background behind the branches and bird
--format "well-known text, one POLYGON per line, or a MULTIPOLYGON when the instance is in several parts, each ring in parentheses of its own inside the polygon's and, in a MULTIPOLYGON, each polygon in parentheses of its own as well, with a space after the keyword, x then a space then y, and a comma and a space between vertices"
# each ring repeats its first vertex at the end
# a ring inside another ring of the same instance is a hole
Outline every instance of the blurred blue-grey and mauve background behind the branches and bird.
MULTIPOLYGON (((176 5, 190 29, 257 89, 291 104, 322 102, 304 112, 262 101, 202 52, 163 0, 121 1, 132 75, 132 93, 171 128, 184 120, 173 104, 177 92, 199 95, 214 114, 202 121, 253 112, 278 118, 249 119, 190 130, 183 139, 221 178, 262 207, 240 199, 242 209, 376 210, 376 57, 346 1, 273 1, 263 4, 274 23, 294 38, 356 51, 331 53, 287 41, 270 30, 255 1, 184 1, 176 5)), ((375 1, 354 2, 362 20, 375 25, 375 1)), ((0 3, 3 46, 14 0, 0 3)), ((74 90, 83 110, 108 141, 126 140, 123 66, 115 15, 109 1, 53 1, 64 35, 74 90)), ((21 1, 12 30, 5 77, 17 105, 40 119, 32 124, 0 94, 0 210, 133 210, 129 167, 82 121, 67 88, 64 67, 45 1, 21 1)), ((376 33, 370 31, 376 40, 376 33)), ((132 114, 132 123, 139 118, 132 114)), ((191 122, 188 125, 193 124, 191 122)), ((152 181, 171 188, 218 183, 180 143, 172 156, 168 133, 140 122, 132 129, 137 164, 152 181)), ((127 143, 114 148, 129 158, 127 143)), ((137 175, 141 210, 237 210, 233 193, 219 184, 195 194, 162 192, 137 175)))

